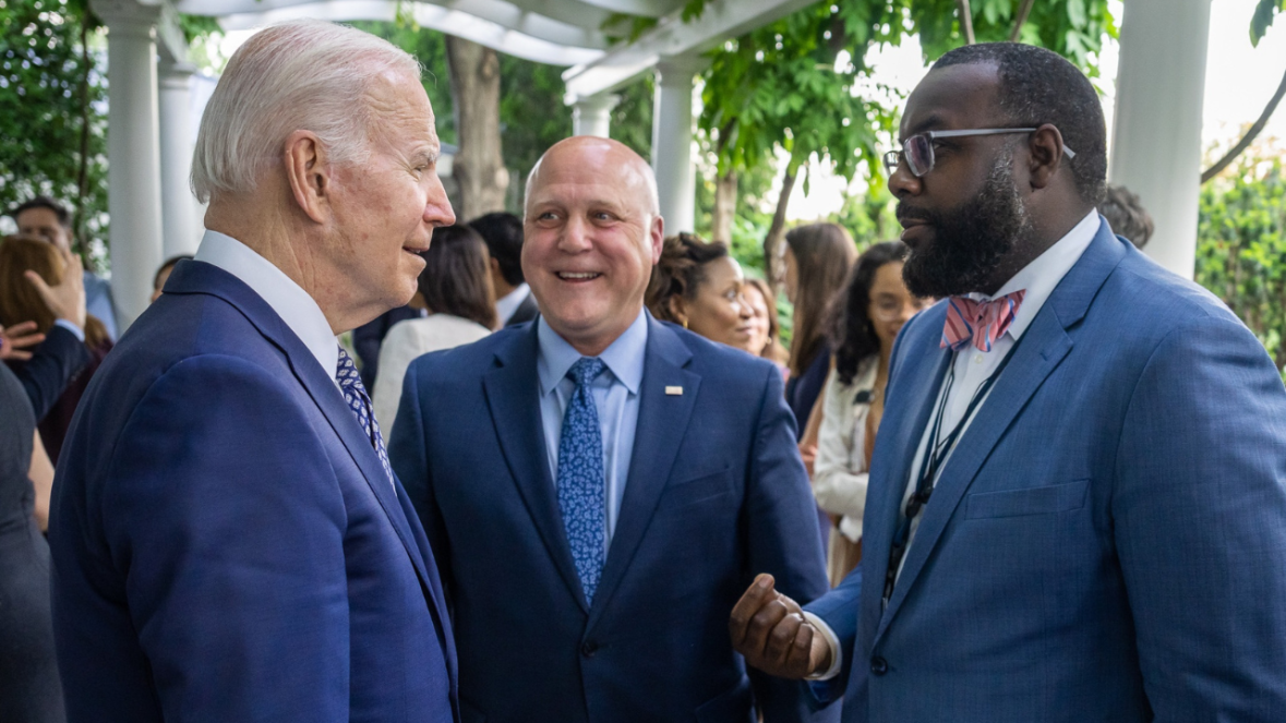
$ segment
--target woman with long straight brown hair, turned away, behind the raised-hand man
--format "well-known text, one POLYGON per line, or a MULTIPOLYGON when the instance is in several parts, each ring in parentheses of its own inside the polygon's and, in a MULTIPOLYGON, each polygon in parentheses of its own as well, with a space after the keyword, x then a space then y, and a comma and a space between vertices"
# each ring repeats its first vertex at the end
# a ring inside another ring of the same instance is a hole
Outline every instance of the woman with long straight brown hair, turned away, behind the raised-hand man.
POLYGON ((795 413, 802 437, 831 368, 826 313, 840 293, 858 248, 849 232, 838 224, 796 226, 786 234, 783 248, 778 268, 783 274, 786 297, 795 305, 786 403, 795 413))

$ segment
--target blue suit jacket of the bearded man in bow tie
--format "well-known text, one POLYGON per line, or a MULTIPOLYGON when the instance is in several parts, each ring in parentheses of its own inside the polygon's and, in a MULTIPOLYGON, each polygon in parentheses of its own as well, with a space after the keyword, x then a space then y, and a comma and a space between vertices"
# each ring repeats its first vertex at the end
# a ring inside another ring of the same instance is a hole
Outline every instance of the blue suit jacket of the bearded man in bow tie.
POLYGON ((844 641, 844 720, 1286 719, 1286 390, 1223 304, 1106 221, 961 437, 881 610, 944 319, 898 340, 862 575, 810 607, 844 641))

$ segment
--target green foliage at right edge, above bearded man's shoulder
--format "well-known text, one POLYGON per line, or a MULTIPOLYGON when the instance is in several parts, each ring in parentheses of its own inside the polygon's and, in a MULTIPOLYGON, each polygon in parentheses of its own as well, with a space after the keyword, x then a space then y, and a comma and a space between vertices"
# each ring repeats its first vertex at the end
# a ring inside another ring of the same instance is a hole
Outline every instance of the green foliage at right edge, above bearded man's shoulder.
MULTIPOLYGON (((1286 174, 1245 160, 1201 188, 1196 280, 1222 298, 1286 368, 1286 174)), ((1286 377, 1286 369, 1283 369, 1286 377)))

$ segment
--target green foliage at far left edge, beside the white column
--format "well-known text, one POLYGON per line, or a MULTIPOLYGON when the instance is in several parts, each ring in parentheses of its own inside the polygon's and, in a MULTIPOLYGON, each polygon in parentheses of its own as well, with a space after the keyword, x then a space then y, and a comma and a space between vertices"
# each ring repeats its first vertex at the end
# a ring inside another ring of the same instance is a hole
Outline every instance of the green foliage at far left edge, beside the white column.
POLYGON ((81 242, 107 235, 107 77, 86 15, 84 3, 0 0, 0 210, 62 199, 81 210, 81 242))

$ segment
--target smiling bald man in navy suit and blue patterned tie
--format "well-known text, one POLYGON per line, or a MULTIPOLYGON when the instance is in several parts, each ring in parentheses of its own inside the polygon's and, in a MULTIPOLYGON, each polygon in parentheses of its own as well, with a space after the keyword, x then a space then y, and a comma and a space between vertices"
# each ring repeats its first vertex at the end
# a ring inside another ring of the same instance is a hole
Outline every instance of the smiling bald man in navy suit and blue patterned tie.
POLYGON ((451 601, 462 718, 810 719, 725 624, 752 570, 826 590, 781 373, 643 310, 662 220, 633 151, 558 143, 526 198, 540 319, 413 363, 391 446, 451 601))

